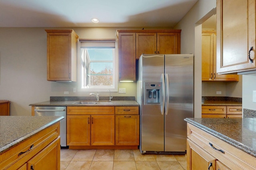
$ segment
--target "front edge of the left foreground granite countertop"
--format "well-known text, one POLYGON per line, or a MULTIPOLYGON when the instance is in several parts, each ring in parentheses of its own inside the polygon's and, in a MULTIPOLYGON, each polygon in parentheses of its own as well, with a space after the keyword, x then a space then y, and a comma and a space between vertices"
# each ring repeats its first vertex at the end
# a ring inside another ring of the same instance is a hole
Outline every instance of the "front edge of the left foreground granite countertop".
POLYGON ((57 123, 58 121, 60 121, 60 120, 62 120, 62 119, 64 119, 64 117, 63 117, 63 116, 60 116, 60 117, 54 119, 53 121, 51 121, 50 123, 47 123, 47 124, 45 124, 44 126, 41 126, 41 127, 39 127, 38 129, 36 129, 36 130, 34 130, 34 131, 31 131, 30 133, 27 133, 26 135, 20 137, 18 140, 12 141, 12 142, 6 144, 4 147, 1 147, 1 148, 0 148, 0 154, 2 154, 3 152, 5 152, 6 150, 8 150, 8 149, 10 149, 10 148, 12 148, 12 147, 15 147, 15 146, 18 145, 19 143, 25 141, 26 139, 32 137, 32 136, 35 135, 36 133, 38 133, 38 132, 40 132, 40 131, 46 129, 47 127, 53 125, 54 123, 57 123))

